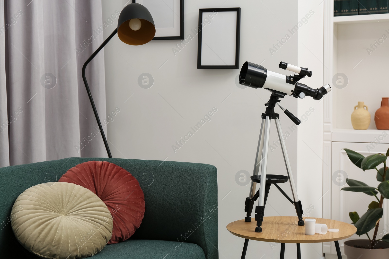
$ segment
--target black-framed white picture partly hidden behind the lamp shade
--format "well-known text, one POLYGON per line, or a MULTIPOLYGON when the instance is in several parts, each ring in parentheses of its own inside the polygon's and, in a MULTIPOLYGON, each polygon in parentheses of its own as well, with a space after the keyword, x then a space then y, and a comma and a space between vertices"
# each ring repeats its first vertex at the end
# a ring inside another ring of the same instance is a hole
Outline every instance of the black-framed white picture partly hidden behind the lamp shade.
POLYGON ((155 25, 153 40, 184 39, 184 0, 133 0, 149 10, 155 25))

